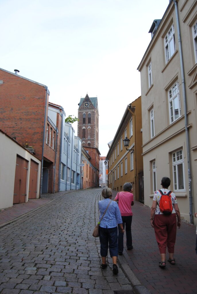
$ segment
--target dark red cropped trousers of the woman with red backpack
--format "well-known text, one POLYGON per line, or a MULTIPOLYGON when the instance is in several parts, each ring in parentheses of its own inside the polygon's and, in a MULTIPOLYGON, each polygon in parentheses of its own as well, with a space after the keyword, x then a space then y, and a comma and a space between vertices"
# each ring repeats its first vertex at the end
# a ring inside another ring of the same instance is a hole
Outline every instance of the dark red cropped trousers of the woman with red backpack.
POLYGON ((176 213, 170 215, 155 214, 154 230, 160 253, 174 253, 176 241, 176 213))

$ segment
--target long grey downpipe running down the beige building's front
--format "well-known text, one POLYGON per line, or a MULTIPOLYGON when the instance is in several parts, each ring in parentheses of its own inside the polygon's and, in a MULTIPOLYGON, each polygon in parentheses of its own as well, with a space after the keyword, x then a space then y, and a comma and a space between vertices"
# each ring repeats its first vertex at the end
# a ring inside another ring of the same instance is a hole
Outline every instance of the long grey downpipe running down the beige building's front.
POLYGON ((185 117, 185 132, 186 132, 186 146, 187 146, 187 161, 188 161, 188 182, 189 182, 189 216, 190 223, 193 223, 193 197, 192 197, 192 177, 191 177, 191 161, 190 161, 190 143, 189 143, 189 131, 188 131, 188 120, 187 120, 187 103, 186 103, 186 90, 185 90, 185 76, 183 69, 183 53, 181 45, 181 32, 178 19, 178 5, 175 0, 175 14, 176 14, 176 24, 178 31, 178 46, 179 46, 179 56, 180 56, 180 65, 181 65, 181 78, 183 86, 183 104, 184 104, 184 117, 185 117))

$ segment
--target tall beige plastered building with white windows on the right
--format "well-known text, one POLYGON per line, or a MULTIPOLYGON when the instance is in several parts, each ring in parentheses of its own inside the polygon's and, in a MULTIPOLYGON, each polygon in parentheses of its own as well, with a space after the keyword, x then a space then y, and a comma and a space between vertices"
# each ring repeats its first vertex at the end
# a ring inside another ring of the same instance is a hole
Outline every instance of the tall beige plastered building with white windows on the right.
POLYGON ((168 176, 182 218, 192 222, 197 212, 197 2, 170 1, 149 32, 152 39, 138 66, 144 203, 151 206, 161 178, 168 176))

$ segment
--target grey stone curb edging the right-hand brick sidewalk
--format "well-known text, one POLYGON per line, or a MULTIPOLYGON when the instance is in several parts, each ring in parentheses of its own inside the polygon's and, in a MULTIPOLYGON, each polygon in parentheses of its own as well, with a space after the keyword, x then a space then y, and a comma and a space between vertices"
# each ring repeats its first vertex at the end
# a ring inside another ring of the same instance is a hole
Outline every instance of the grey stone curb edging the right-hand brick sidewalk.
POLYGON ((123 271, 123 273, 128 278, 129 282, 131 283, 131 286, 133 287, 133 290, 136 294, 150 294, 151 292, 142 285, 142 283, 138 280, 136 275, 133 273, 131 268, 128 266, 126 259, 123 255, 118 255, 118 263, 123 271))

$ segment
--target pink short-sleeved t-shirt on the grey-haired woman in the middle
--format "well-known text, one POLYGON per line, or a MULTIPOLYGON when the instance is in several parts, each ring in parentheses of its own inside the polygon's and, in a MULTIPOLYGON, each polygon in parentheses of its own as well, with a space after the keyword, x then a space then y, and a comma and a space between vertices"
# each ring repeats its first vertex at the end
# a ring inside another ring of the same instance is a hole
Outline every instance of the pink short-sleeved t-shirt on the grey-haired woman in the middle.
POLYGON ((118 200, 121 216, 132 216, 131 202, 134 201, 133 194, 127 191, 119 192, 114 200, 118 200))

